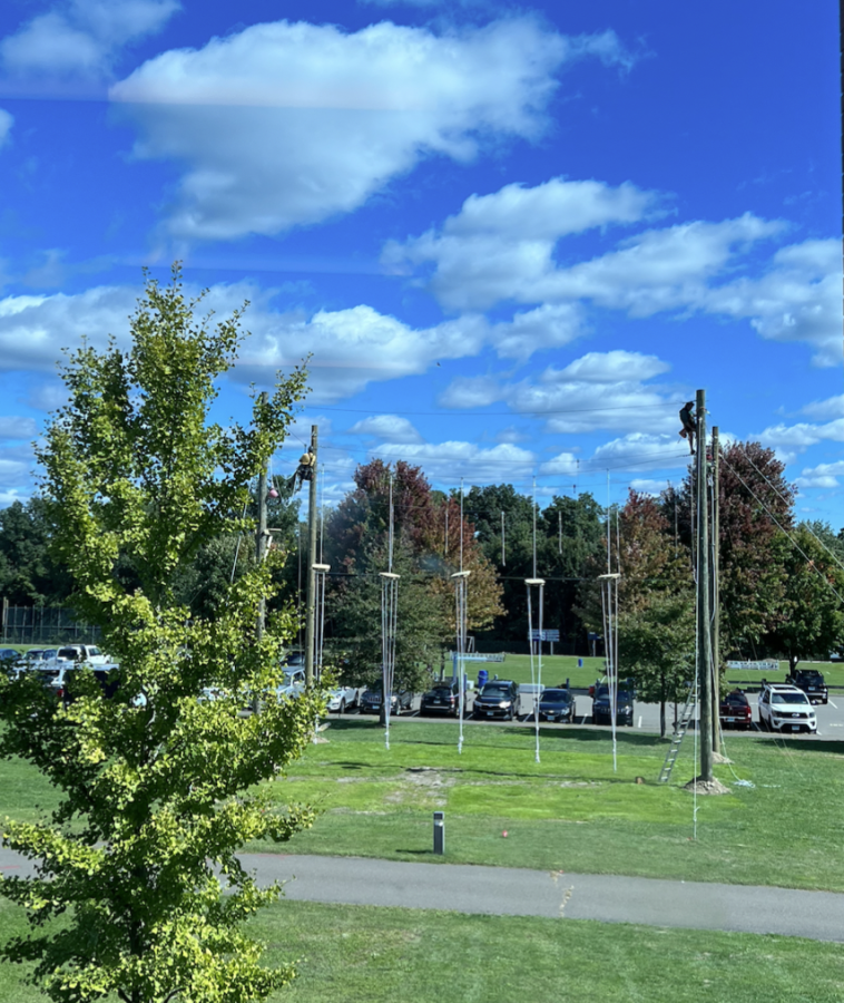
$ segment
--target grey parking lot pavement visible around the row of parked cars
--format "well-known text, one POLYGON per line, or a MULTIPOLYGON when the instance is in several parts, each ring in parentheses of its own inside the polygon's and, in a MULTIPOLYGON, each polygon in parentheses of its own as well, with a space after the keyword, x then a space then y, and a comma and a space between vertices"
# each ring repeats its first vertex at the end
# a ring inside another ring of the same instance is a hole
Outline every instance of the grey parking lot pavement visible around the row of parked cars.
MULTIPOLYGON (((573 690, 575 698, 577 701, 577 717, 575 723, 578 726, 591 726, 591 727, 605 727, 605 726, 592 726, 592 700, 588 695, 586 690, 573 690)), ((758 720, 759 714, 756 709, 756 693, 747 693, 747 699, 750 702, 750 707, 753 709, 753 728, 749 730, 744 729, 727 729, 726 734, 729 737, 742 738, 746 734, 765 734, 772 738, 776 738, 777 736, 772 736, 771 732, 759 731, 758 720)), ((467 720, 475 720, 472 717, 472 703, 473 703, 473 694, 470 693, 467 700, 467 720)), ((416 695, 413 698, 412 710, 410 713, 406 711, 401 714, 402 720, 412 720, 412 721, 454 721, 455 719, 449 715, 441 717, 424 717, 421 718, 419 714, 419 704, 420 697, 416 695)), ((533 714, 532 714, 532 701, 528 707, 521 707, 518 721, 501 721, 501 720, 487 720, 483 719, 484 723, 490 724, 491 727, 502 727, 507 726, 512 728, 513 726, 522 724, 523 727, 532 727, 533 724, 533 714)), ((679 711, 681 708, 678 708, 679 711)), ((830 740, 841 740, 844 741, 844 694, 842 693, 831 693, 830 702, 827 704, 816 704, 815 710, 817 712, 817 734, 801 734, 801 736, 792 736, 788 738, 799 738, 807 741, 813 741, 815 739, 824 739, 825 741, 830 740)), ((359 713, 357 709, 347 711, 350 714, 359 713)), ((364 715, 366 717, 366 715, 364 715)), ((395 718, 395 713, 393 713, 393 718, 395 718)), ((557 724, 551 723, 549 721, 542 722, 542 728, 570 728, 570 724, 557 724)), ((674 704, 668 704, 666 707, 666 729, 670 733, 674 729, 674 704)), ((644 733, 659 733, 659 704, 658 703, 640 703, 636 701, 635 713, 634 713, 634 730, 641 731, 644 733)), ((727 739, 729 740, 729 739, 727 739)))

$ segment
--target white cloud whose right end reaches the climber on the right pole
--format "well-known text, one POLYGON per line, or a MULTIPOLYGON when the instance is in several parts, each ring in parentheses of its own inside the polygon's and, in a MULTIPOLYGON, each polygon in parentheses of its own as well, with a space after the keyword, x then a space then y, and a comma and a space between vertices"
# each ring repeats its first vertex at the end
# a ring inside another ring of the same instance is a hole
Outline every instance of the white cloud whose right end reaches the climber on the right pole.
POLYGON ((544 418, 552 432, 612 429, 667 434, 679 427, 678 395, 645 381, 668 369, 661 359, 640 352, 589 352, 565 369, 549 367, 536 380, 458 379, 439 402, 477 408, 502 401, 518 413, 544 418))

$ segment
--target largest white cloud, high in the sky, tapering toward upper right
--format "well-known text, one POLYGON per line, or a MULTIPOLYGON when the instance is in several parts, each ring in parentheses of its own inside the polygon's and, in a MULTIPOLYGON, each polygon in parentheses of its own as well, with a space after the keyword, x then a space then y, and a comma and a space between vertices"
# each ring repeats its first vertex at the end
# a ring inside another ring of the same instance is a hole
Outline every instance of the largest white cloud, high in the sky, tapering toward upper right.
POLYGON ((553 72, 622 60, 610 42, 531 18, 442 35, 277 21, 157 56, 110 95, 141 133, 136 156, 187 165, 170 233, 229 240, 351 212, 423 156, 536 136, 553 72))

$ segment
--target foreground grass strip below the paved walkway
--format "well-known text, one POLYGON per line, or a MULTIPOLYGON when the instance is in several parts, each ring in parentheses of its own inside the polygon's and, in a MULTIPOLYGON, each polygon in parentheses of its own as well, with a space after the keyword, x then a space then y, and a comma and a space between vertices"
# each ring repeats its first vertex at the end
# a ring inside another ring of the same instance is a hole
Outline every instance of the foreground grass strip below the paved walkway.
MULTIPOLYGON (((22 929, 0 903, 0 939, 22 929)), ((266 964, 297 960, 275 1003, 521 1003, 701 997, 837 1003, 840 944, 622 924, 282 902, 252 922, 266 964)), ((0 1003, 43 1000, 0 967, 0 1003)))

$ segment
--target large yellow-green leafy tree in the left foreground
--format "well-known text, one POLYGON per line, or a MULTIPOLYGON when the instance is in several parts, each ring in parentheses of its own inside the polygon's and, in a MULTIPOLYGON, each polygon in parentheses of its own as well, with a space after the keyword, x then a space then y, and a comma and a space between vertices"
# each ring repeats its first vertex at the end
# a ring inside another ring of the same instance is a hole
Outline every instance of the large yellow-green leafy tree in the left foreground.
POLYGON ((279 614, 255 630, 272 557, 223 590, 213 615, 192 614, 176 586, 209 541, 251 528, 248 485, 284 438, 304 374, 258 398, 249 427, 209 423, 239 313, 210 327, 194 319, 197 302, 175 269, 165 288, 147 283, 128 350, 72 353, 69 403, 38 454, 75 604, 119 661, 109 698, 89 673, 66 708, 26 679, 0 693, 0 753, 29 760, 60 793, 51 816, 3 826, 4 845, 36 874, 0 884, 31 922, 2 955, 35 963, 61 1003, 243 1003, 293 975, 262 966, 241 928, 278 889, 259 890, 236 850, 311 824, 307 808, 271 810, 261 785, 300 754, 320 700, 239 713, 279 682, 292 629, 279 614), (228 695, 202 702, 206 686, 228 695))

